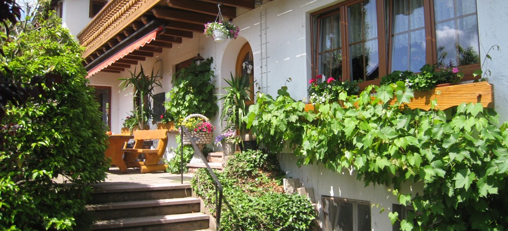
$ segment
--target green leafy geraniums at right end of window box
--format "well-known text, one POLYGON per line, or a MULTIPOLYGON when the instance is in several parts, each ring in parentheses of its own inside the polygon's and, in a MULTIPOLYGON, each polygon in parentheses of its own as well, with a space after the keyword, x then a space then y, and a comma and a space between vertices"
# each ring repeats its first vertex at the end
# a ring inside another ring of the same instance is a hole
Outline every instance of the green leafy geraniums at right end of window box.
POLYGON ((460 82, 464 73, 457 67, 436 68, 436 65, 425 64, 420 73, 411 71, 394 71, 383 76, 381 85, 403 82, 406 87, 417 91, 427 91, 441 84, 456 84, 460 82))

